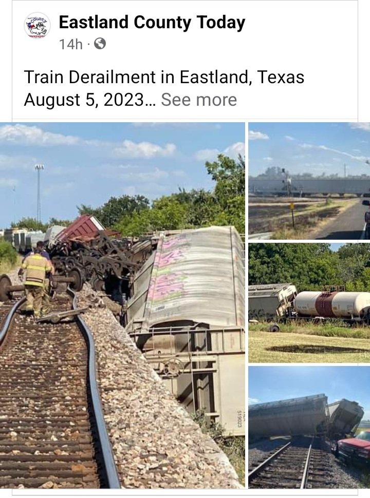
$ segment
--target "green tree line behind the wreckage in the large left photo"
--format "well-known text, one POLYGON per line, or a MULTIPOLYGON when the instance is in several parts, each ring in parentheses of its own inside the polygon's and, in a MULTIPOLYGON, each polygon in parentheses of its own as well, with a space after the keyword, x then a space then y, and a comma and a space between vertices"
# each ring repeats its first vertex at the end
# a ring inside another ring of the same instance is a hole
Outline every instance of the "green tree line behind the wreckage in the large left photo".
MULTIPOLYGON (((111 197, 102 206, 77 206, 78 214, 93 215, 106 228, 116 229, 123 236, 210 225, 234 225, 244 234, 245 159, 219 154, 216 161, 206 162, 205 166, 215 182, 212 190, 179 188, 152 202, 142 195, 111 197)), ((48 223, 40 223, 34 218, 22 218, 12 226, 44 232, 50 225, 67 226, 70 222, 50 218, 48 223)))

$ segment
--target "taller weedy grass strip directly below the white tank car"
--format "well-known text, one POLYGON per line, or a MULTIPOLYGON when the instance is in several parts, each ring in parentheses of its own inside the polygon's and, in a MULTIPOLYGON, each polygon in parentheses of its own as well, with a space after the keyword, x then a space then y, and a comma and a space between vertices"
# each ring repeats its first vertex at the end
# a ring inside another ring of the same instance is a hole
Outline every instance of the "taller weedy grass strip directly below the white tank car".
MULTIPOLYGON (((249 331, 268 332, 269 326, 273 322, 249 323, 249 331)), ((348 337, 352 339, 370 339, 370 327, 346 327, 345 325, 336 325, 330 322, 325 324, 304 323, 302 321, 295 323, 279 323, 280 332, 286 334, 306 334, 317 335, 320 337, 348 337)))

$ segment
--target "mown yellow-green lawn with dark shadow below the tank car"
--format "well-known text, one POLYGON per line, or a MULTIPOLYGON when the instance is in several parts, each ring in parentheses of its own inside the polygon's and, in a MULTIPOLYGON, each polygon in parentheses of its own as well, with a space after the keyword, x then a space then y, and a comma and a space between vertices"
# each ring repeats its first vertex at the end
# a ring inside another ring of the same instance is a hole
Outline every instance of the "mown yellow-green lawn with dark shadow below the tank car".
POLYGON ((251 363, 370 363, 368 339, 249 330, 251 363))

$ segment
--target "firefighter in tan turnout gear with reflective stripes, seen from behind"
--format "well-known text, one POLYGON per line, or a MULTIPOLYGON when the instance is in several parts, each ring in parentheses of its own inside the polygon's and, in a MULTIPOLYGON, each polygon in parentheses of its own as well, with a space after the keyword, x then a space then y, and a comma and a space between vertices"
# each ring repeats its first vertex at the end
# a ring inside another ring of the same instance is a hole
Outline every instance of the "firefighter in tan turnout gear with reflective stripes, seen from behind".
POLYGON ((18 272, 21 278, 24 270, 26 270, 26 311, 33 311, 34 317, 39 318, 41 316, 41 307, 45 292, 46 273, 53 270, 51 262, 42 256, 41 247, 36 247, 33 254, 27 256, 23 261, 22 268, 18 272))

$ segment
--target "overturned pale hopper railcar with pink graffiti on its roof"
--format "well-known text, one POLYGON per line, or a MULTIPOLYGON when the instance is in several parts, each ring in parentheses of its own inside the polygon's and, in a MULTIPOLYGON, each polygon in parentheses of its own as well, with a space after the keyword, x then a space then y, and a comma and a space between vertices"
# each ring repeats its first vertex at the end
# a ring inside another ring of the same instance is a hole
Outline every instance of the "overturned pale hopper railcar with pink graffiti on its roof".
POLYGON ((232 226, 161 235, 134 276, 126 330, 189 411, 245 434, 244 247, 232 226))

